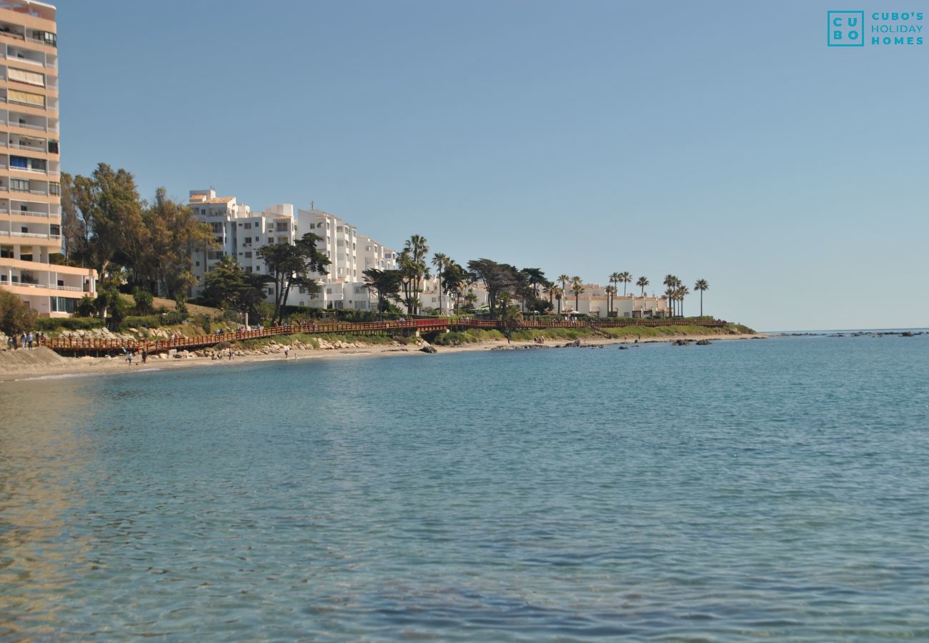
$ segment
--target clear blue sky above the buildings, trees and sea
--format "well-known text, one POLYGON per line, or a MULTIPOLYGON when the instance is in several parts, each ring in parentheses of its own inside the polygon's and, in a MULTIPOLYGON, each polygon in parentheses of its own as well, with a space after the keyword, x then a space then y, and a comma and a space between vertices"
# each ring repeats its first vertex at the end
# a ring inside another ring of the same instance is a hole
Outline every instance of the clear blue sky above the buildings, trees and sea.
POLYGON ((828 9, 903 7, 847 4, 60 0, 62 165, 704 278, 763 330, 929 326, 929 42, 827 47, 828 9))

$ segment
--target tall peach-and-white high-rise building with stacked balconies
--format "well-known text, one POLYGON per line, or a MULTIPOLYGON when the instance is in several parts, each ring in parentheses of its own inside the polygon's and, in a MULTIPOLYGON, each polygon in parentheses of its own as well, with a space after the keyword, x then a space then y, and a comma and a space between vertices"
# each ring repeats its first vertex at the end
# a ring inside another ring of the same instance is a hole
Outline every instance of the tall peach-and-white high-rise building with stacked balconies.
POLYGON ((41 316, 95 295, 94 270, 61 253, 59 59, 55 7, 0 0, 0 287, 41 316))

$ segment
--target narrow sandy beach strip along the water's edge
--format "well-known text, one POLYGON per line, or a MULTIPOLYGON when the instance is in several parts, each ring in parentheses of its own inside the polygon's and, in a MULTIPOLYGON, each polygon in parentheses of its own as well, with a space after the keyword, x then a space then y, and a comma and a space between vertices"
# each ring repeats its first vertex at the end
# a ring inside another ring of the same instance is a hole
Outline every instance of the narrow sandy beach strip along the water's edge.
MULTIPOLYGON (((633 346, 637 344, 662 344, 662 343, 673 343, 674 341, 681 339, 690 339, 693 341, 698 341, 700 339, 709 339, 714 340, 734 340, 734 339, 766 339, 772 335, 766 335, 764 333, 754 333, 754 334, 744 334, 744 335, 731 335, 731 334, 720 334, 720 335, 662 335, 661 337, 645 337, 640 338, 638 342, 635 342, 635 338, 595 338, 595 339, 585 339, 582 341, 583 347, 593 347, 593 346, 620 346, 627 345, 633 346)), ((568 340, 558 339, 558 340, 546 340, 543 344, 533 344, 532 342, 513 342, 507 344, 504 340, 490 340, 482 342, 474 342, 472 344, 463 344, 461 346, 453 347, 444 347, 438 346, 436 350, 438 354, 448 354, 448 353, 463 353, 463 352, 474 352, 474 351, 490 351, 493 349, 508 349, 515 350, 519 348, 556 348, 563 347, 566 343, 569 343, 568 340)), ((283 352, 271 352, 268 354, 261 355, 236 355, 232 360, 228 359, 217 359, 214 360, 211 357, 188 357, 183 359, 156 359, 150 360, 148 363, 142 364, 136 358, 136 361, 133 361, 132 365, 126 363, 123 358, 67 358, 61 357, 57 354, 55 356, 58 358, 54 363, 22 363, 22 364, 10 364, 4 363, 4 360, 0 360, 0 382, 24 382, 24 381, 38 381, 46 379, 54 379, 58 377, 77 377, 85 375, 111 375, 111 374, 138 374, 138 373, 153 373, 159 371, 170 371, 178 368, 206 368, 206 367, 215 367, 220 368, 226 365, 236 365, 236 364, 252 364, 260 362, 278 362, 278 361, 306 361, 306 360, 327 360, 327 359, 344 359, 351 357, 399 357, 399 356, 423 356, 427 357, 428 354, 421 351, 420 348, 425 346, 423 344, 410 346, 400 346, 400 345, 383 345, 383 344, 372 344, 370 346, 362 346, 358 348, 292 348, 290 351, 290 357, 284 358, 283 352)), ((20 353, 23 350, 20 348, 16 353, 20 353)), ((33 349, 33 350, 38 350, 33 349)), ((44 349, 44 351, 52 352, 49 349, 44 349)), ((16 354, 14 353, 14 355, 16 354)), ((47 354, 47 353, 46 353, 47 354)), ((0 353, 0 356, 3 354, 0 353)))

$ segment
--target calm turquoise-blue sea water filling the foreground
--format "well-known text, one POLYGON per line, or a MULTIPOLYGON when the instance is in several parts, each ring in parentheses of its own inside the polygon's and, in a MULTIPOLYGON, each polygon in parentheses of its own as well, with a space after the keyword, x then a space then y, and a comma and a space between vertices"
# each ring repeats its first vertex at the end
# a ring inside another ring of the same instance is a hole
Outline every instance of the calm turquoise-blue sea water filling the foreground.
POLYGON ((929 636, 929 335, 0 387, 0 636, 929 636))

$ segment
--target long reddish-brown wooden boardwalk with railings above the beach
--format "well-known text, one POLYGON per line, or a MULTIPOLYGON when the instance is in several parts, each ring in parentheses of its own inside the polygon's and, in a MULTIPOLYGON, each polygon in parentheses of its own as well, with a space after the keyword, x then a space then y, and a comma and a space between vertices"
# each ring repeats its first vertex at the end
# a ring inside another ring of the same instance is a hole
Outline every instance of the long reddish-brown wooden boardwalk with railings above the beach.
MULTIPOLYGON (((701 322, 698 320, 613 320, 606 322, 535 322, 525 320, 520 328, 622 328, 625 326, 706 326, 718 328, 727 322, 714 320, 701 322)), ((172 348, 177 350, 197 350, 211 348, 226 342, 240 342, 245 339, 262 339, 277 335, 324 335, 337 333, 340 335, 407 335, 410 333, 430 333, 434 331, 463 331, 469 328, 482 328, 493 330, 500 327, 500 322, 490 320, 473 320, 470 318, 436 318, 407 320, 404 322, 298 322, 281 326, 251 331, 235 331, 232 333, 218 333, 210 335, 197 335, 194 337, 177 337, 175 339, 100 339, 91 337, 46 337, 39 342, 63 354, 77 353, 111 353, 147 350, 149 353, 158 353, 172 348)))

